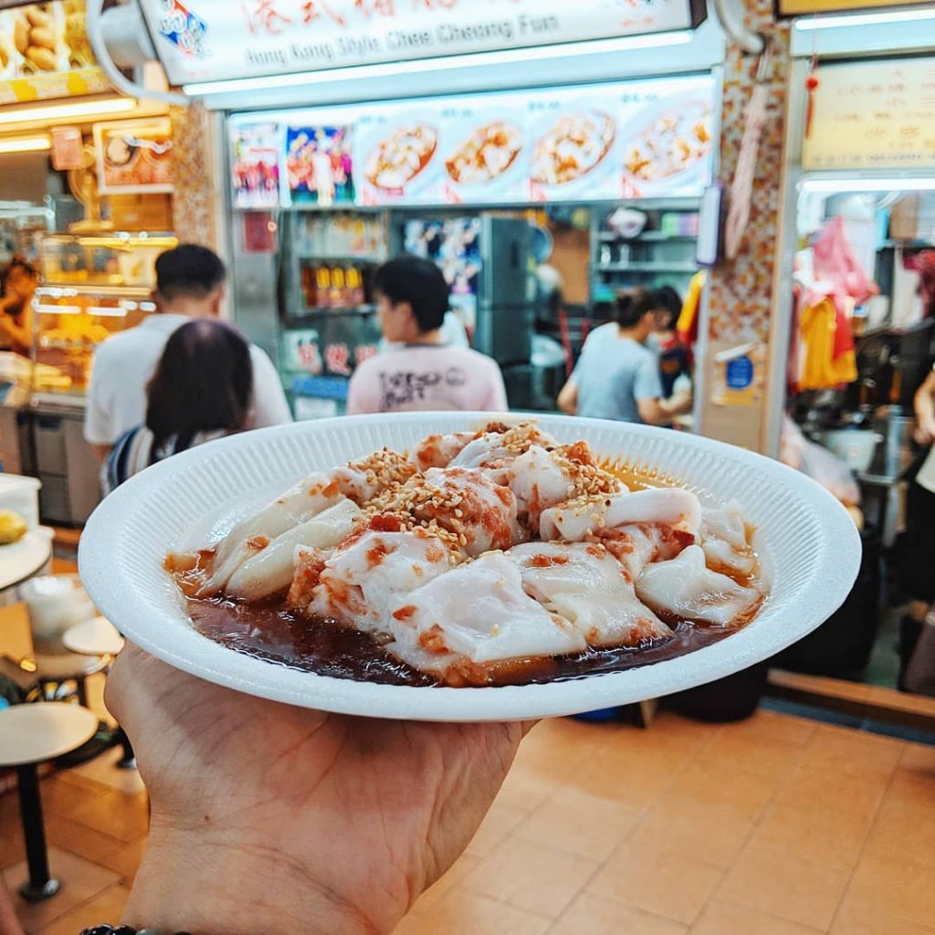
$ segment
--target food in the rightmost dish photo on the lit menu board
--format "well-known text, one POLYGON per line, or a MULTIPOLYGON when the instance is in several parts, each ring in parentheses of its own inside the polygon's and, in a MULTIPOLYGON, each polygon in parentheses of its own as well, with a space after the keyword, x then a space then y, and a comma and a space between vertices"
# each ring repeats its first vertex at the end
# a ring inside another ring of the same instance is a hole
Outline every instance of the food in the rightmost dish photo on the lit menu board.
POLYGON ((656 117, 626 151, 626 171, 640 181, 683 172, 711 152, 711 105, 690 101, 656 117))

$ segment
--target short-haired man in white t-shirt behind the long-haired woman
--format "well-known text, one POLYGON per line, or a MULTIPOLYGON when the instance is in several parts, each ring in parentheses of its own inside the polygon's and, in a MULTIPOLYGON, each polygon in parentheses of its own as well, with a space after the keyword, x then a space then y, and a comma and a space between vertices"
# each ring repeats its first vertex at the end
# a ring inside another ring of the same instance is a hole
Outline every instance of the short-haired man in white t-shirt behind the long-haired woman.
MULTIPOLYGON (((169 336, 194 318, 217 318, 226 270, 207 247, 181 244, 156 260, 157 312, 136 328, 108 338, 94 353, 84 438, 101 461, 124 432, 146 417, 146 387, 169 336)), ((279 373, 266 352, 251 345, 253 388, 248 427, 292 421, 279 373)))

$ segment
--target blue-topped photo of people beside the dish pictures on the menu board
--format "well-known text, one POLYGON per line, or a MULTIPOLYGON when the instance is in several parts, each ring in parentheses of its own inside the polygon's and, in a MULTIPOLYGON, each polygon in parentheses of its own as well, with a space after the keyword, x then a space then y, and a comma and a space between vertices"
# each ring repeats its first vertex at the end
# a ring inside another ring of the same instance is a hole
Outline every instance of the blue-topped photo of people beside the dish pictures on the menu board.
POLYGON ((351 136, 350 126, 286 128, 286 173, 293 204, 353 204, 351 136))

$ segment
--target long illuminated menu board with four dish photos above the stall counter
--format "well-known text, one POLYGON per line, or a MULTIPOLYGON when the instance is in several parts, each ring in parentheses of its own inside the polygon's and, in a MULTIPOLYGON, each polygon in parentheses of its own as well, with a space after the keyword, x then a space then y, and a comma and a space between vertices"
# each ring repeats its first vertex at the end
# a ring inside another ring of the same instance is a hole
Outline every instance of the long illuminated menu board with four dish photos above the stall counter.
POLYGON ((712 180, 714 93, 714 79, 698 75, 238 114, 230 122, 234 203, 698 196, 712 180))

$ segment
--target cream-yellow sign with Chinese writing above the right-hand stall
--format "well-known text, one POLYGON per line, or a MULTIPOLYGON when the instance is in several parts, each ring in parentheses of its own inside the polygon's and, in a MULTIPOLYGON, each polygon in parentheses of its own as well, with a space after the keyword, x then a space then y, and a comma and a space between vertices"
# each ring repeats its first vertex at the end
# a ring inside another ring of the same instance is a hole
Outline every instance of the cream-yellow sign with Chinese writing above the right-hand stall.
POLYGON ((935 167, 935 58, 823 65, 802 167, 935 167))

